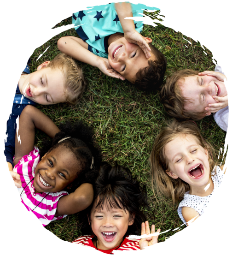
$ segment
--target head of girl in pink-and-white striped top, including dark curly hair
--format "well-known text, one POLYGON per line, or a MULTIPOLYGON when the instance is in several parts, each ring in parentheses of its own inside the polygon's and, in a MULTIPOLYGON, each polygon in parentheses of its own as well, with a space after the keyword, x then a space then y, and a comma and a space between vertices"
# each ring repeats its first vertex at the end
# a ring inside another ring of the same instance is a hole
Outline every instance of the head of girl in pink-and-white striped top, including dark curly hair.
POLYGON ((60 125, 60 130, 40 151, 34 179, 38 192, 73 192, 98 175, 101 151, 93 143, 92 129, 79 121, 60 125))

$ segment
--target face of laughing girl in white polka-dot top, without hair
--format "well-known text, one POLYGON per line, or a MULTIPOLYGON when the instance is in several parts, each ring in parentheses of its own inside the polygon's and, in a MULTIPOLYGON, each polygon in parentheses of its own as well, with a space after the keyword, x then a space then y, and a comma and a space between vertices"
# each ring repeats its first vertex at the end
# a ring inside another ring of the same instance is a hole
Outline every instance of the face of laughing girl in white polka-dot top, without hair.
POLYGON ((203 186, 209 182, 209 155, 192 135, 181 135, 165 146, 168 161, 166 171, 173 179, 180 178, 191 186, 203 186))

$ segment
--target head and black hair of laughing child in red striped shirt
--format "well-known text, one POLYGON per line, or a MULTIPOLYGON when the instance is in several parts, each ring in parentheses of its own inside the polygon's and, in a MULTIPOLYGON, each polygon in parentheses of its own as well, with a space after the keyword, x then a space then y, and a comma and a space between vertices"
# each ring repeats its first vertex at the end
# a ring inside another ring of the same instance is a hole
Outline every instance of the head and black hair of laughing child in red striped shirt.
POLYGON ((93 203, 86 210, 91 229, 87 228, 84 232, 92 231, 98 248, 115 248, 125 236, 139 235, 141 224, 145 221, 141 206, 147 206, 144 192, 130 171, 104 164, 95 182, 93 203))

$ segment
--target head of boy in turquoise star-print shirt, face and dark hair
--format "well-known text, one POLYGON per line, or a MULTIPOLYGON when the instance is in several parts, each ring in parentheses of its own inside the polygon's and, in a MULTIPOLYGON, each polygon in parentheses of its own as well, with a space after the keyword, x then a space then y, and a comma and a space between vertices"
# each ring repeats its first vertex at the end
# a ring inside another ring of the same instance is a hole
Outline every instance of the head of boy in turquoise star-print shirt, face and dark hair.
POLYGON ((128 42, 123 36, 110 44, 108 60, 111 67, 133 83, 136 88, 154 91, 159 89, 163 82, 167 60, 151 44, 151 38, 144 38, 151 48, 149 59, 146 58, 139 45, 128 42))

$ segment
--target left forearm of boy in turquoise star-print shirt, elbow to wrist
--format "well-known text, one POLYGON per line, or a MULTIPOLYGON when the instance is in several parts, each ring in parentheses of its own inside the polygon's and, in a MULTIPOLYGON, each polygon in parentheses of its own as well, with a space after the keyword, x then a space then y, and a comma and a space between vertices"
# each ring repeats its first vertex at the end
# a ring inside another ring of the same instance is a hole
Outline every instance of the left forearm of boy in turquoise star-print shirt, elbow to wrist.
POLYGON ((75 36, 65 36, 61 37, 58 40, 58 49, 71 57, 73 57, 75 60, 79 60, 81 62, 84 62, 86 64, 92 65, 94 67, 98 66, 98 59, 99 56, 91 53, 87 47, 84 47, 87 45, 86 42, 84 42, 80 38, 77 38, 75 36), (86 45, 85 45, 86 43, 86 45), (81 45, 82 44, 82 45, 81 45))

